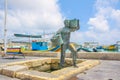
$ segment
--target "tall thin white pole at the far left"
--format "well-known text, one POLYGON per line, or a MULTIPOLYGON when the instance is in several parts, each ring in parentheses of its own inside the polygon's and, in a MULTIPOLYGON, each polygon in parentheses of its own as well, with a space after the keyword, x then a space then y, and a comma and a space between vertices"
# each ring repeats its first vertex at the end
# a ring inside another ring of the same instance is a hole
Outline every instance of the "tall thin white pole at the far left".
POLYGON ((7 0, 4 2, 5 6, 5 19, 4 19, 4 53, 7 52, 7 0))

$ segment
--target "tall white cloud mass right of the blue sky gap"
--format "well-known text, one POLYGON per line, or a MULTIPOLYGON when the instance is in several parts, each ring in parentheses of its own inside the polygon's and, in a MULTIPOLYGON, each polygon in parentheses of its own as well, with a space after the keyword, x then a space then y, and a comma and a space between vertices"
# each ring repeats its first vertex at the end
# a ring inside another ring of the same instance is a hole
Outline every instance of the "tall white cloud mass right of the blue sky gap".
POLYGON ((101 44, 116 43, 120 40, 120 10, 115 9, 119 0, 97 0, 94 7, 96 13, 89 18, 89 31, 85 32, 88 40, 95 40, 101 44), (116 25, 117 24, 117 25, 116 25))

